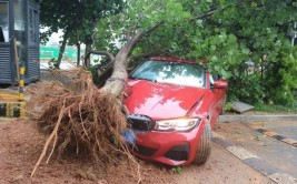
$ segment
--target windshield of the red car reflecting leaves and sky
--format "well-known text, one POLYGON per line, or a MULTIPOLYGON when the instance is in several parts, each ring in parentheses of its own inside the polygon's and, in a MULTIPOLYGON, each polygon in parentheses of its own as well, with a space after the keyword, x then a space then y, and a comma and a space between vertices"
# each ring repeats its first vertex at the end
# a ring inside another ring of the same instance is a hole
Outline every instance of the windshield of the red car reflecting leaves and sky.
POLYGON ((130 75, 130 79, 205 88, 205 69, 186 63, 171 61, 146 61, 130 75))

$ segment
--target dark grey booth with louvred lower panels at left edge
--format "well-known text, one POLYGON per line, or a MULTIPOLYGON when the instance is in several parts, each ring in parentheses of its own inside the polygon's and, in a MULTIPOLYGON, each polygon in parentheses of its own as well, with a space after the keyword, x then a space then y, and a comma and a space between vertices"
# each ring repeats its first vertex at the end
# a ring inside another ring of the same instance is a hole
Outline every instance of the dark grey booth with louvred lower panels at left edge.
POLYGON ((0 84, 40 79, 39 10, 41 0, 0 0, 0 84))

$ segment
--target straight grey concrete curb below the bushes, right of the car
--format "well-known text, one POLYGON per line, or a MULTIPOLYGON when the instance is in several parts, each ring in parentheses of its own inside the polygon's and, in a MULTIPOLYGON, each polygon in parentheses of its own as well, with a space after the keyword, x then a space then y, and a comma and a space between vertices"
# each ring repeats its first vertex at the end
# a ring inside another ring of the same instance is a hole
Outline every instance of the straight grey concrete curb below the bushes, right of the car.
POLYGON ((224 122, 273 122, 273 121, 296 121, 297 114, 279 115, 220 115, 219 123, 224 122))

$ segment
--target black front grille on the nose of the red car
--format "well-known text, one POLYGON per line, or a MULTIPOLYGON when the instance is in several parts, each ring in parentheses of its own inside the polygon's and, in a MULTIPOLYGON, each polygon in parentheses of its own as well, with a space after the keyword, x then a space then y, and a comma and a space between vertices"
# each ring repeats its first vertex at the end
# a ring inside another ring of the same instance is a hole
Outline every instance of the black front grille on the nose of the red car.
POLYGON ((155 121, 151 120, 149 116, 146 116, 146 115, 130 114, 130 115, 128 115, 127 121, 128 121, 128 124, 133 130, 137 130, 137 131, 149 132, 155 126, 155 121))

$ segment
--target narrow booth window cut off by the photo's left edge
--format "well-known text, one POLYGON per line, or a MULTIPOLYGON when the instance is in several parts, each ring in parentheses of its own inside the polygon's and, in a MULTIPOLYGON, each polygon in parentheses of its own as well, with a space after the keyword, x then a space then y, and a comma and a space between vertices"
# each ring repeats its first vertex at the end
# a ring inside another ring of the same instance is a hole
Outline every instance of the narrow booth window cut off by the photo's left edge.
POLYGON ((9 42, 8 2, 0 2, 0 42, 9 42))

